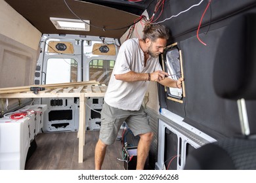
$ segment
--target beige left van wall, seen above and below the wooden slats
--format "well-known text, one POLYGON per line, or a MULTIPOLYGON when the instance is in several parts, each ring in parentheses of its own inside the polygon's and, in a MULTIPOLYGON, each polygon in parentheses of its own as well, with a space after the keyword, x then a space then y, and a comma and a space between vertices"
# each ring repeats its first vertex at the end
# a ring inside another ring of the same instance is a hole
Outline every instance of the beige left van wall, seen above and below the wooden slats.
MULTIPOLYGON (((41 33, 3 0, 0 25, 0 88, 33 84, 41 33)), ((5 101, 1 100, 1 114, 7 110, 5 101)), ((9 99, 8 109, 24 103, 9 99)))

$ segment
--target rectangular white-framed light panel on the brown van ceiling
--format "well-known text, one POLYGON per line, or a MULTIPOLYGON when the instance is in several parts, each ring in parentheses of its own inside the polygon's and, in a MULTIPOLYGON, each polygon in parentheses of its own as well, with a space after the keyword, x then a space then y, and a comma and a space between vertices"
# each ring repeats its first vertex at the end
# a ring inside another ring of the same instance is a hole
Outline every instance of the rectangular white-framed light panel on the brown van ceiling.
POLYGON ((77 20, 69 18, 54 18, 50 17, 51 22, 56 29, 70 31, 90 31, 90 20, 77 20))

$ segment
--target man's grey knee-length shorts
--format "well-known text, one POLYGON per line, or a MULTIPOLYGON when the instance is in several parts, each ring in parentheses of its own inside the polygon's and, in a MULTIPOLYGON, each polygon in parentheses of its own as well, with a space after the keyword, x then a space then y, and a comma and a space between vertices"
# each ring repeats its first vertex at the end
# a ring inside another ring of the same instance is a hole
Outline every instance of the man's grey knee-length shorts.
POLYGON ((143 107, 140 110, 121 110, 105 102, 101 110, 100 141, 113 144, 123 122, 126 122, 135 136, 152 131, 143 107))

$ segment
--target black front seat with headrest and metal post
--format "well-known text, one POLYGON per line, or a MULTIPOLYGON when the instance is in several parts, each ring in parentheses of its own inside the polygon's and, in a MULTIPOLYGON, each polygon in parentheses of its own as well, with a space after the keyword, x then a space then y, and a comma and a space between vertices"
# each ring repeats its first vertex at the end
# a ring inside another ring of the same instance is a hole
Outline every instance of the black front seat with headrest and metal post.
POLYGON ((213 68, 215 93, 238 101, 241 137, 221 139, 192 151, 184 169, 256 169, 256 140, 250 134, 246 100, 256 99, 256 14, 243 14, 223 31, 213 68))

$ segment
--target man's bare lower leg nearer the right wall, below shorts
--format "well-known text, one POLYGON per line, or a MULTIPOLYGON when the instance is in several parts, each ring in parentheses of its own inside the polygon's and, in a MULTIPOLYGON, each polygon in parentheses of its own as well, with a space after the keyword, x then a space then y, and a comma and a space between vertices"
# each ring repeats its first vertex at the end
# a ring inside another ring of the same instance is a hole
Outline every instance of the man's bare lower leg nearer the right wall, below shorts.
POLYGON ((140 141, 137 148, 137 170, 143 170, 148 158, 148 152, 150 150, 150 144, 153 139, 154 133, 144 133, 140 135, 140 141))

